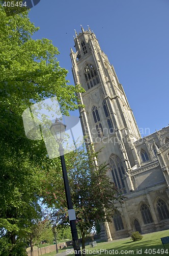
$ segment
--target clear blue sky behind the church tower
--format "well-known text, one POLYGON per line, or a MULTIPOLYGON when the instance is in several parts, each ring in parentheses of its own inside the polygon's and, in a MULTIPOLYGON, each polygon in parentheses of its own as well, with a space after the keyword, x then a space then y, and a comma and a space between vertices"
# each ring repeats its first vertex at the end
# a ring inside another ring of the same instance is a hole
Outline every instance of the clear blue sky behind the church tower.
POLYGON ((139 129, 153 133, 168 125, 168 0, 41 0, 30 19, 40 27, 34 39, 45 37, 58 47, 71 84, 74 29, 89 25, 115 67, 139 129))

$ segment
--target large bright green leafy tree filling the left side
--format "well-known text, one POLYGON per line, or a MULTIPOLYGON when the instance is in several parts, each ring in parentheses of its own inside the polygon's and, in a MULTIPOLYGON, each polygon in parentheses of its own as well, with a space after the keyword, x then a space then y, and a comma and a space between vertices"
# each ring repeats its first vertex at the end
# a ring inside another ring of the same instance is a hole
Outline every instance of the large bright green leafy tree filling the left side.
POLYGON ((59 159, 48 159, 43 141, 25 137, 22 113, 33 103, 57 96, 68 114, 78 108, 75 93, 81 88, 67 85, 68 71, 59 66, 59 51, 52 42, 32 39, 38 28, 27 11, 7 15, 0 6, 0 19, 0 254, 24 255, 24 237, 32 220, 41 218, 38 200, 46 189, 42 181, 51 166, 61 167, 59 159))

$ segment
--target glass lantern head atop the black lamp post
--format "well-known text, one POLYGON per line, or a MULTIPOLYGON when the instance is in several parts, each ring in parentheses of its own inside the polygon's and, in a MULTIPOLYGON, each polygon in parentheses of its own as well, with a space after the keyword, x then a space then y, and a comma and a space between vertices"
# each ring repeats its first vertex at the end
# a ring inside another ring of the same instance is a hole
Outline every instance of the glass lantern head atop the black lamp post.
POLYGON ((65 135, 66 125, 56 118, 55 123, 50 126, 50 132, 58 143, 62 143, 65 135))

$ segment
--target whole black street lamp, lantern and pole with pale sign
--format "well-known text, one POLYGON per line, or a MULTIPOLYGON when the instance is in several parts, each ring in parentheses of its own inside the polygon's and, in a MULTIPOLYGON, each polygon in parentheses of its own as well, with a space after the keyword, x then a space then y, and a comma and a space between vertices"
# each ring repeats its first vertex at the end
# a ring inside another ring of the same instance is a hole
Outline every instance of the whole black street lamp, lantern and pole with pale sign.
POLYGON ((64 148, 63 148, 63 145, 62 145, 65 130, 66 130, 66 125, 63 124, 62 122, 60 122, 58 118, 55 120, 55 123, 52 123, 52 125, 50 126, 50 132, 52 133, 55 140, 59 143, 59 152, 60 152, 60 158, 61 158, 66 201, 67 201, 67 206, 68 206, 70 228, 71 228, 71 233, 72 233, 73 249, 75 251, 75 254, 81 256, 80 246, 79 246, 79 243, 78 243, 77 228, 76 228, 75 210, 73 209, 73 204, 72 204, 72 199, 71 199, 71 194, 70 194, 69 181, 68 181, 68 175, 67 175, 67 171, 66 171, 64 148))

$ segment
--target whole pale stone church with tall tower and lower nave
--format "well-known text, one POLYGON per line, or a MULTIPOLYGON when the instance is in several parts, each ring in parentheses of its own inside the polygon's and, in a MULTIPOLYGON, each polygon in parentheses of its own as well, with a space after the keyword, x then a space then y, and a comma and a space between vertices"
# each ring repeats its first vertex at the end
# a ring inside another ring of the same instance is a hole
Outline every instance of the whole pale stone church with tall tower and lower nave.
MULTIPOLYGON (((99 161, 109 163, 108 175, 126 198, 120 214, 102 226, 102 238, 128 237, 134 231, 148 233, 169 228, 169 126, 142 138, 122 84, 93 31, 74 38, 71 49, 74 82, 86 92, 78 97, 87 144, 99 161)), ((158 120, 157 120, 158 121, 158 120)))

